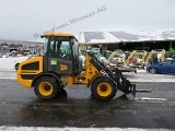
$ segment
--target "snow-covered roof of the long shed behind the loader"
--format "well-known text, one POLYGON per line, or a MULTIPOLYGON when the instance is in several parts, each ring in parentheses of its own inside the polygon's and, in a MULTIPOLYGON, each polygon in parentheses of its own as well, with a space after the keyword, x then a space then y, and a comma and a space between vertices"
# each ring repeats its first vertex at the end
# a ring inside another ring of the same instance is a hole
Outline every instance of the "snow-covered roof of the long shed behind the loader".
POLYGON ((175 29, 80 32, 80 44, 118 44, 129 41, 175 40, 175 29))

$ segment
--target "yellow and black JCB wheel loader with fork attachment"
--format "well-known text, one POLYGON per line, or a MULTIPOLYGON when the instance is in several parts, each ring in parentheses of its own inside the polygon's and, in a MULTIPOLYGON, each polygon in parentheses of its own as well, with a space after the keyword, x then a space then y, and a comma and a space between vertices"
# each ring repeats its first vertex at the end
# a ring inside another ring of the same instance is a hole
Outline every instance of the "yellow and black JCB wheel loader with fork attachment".
POLYGON ((52 99, 65 86, 86 84, 91 95, 97 100, 114 98, 117 90, 125 94, 136 94, 131 84, 121 72, 108 70, 92 52, 85 55, 85 69, 79 59, 79 45, 71 34, 46 33, 43 56, 20 62, 16 70, 18 82, 25 87, 34 87, 40 99, 52 99))

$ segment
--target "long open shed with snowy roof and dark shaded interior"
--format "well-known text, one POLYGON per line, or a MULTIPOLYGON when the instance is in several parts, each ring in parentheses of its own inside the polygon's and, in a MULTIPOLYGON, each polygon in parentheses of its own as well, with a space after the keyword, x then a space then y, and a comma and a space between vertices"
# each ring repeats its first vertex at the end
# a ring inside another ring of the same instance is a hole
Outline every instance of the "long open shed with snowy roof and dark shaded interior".
POLYGON ((152 49, 175 49, 175 29, 160 31, 113 31, 113 32, 81 32, 80 45, 101 45, 108 50, 124 51, 152 49))

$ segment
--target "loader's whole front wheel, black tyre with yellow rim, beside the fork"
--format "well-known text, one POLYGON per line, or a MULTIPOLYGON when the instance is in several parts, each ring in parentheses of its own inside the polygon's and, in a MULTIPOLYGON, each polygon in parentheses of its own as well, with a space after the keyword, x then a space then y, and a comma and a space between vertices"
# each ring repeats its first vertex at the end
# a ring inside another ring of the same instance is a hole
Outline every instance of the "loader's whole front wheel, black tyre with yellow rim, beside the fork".
POLYGON ((116 91, 114 82, 107 76, 97 78, 91 85, 92 97, 101 102, 113 99, 116 91))

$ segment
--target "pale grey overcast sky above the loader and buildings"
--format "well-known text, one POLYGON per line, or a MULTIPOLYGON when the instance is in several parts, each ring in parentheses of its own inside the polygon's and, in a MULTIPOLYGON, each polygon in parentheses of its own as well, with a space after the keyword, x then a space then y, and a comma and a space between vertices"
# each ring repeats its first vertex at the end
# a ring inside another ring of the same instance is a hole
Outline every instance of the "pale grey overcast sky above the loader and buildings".
POLYGON ((77 37, 86 31, 174 29, 174 7, 175 0, 0 0, 0 38, 38 41, 51 28, 77 37))

